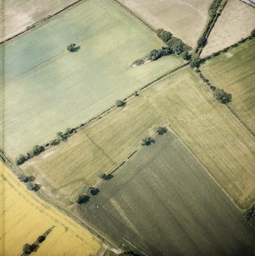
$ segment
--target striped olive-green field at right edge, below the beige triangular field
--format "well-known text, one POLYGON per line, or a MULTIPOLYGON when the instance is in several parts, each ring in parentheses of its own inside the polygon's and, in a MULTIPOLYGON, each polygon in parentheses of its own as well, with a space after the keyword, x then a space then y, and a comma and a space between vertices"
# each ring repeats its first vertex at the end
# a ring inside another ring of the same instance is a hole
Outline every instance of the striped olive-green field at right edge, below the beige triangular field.
POLYGON ((255 39, 206 61, 200 69, 212 85, 232 94, 231 109, 255 131, 255 39))

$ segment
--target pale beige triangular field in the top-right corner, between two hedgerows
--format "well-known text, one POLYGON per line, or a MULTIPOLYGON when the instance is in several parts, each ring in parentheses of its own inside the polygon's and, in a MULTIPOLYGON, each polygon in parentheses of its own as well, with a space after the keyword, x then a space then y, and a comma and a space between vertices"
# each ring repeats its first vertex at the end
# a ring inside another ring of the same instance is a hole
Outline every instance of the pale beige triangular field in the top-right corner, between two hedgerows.
POLYGON ((255 8, 240 0, 228 0, 202 50, 205 57, 247 37, 255 28, 255 8))

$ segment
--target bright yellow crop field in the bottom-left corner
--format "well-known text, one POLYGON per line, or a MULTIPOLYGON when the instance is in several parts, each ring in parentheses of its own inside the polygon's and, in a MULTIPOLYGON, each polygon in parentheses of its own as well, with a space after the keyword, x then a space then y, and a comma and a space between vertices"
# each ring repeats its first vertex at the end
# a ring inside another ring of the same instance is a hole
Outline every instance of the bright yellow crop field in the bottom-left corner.
POLYGON ((0 162, 1 255, 19 256, 23 245, 33 244, 53 227, 36 255, 97 255, 102 245, 98 238, 63 213, 28 192, 11 170, 0 162))

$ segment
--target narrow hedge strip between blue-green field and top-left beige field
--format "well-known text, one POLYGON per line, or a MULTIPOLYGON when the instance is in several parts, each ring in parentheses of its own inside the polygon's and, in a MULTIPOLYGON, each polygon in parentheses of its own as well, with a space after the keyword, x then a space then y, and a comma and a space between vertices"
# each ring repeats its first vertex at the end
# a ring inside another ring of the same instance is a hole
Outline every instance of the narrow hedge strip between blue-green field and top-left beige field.
MULTIPOLYGON (((37 22, 35 22, 34 24, 31 24, 31 25, 28 26, 26 29, 24 29, 24 31, 21 31, 21 32, 19 32, 18 34, 15 34, 14 36, 9 37, 8 39, 5 39, 5 40, 0 41, 0 45, 1 45, 1 44, 4 44, 4 43, 7 43, 8 41, 12 41, 12 40, 15 39, 16 37, 21 36, 21 34, 24 34, 24 33, 28 32, 28 31, 31 31, 31 30, 34 29, 34 28, 40 27, 42 24, 44 24, 45 22, 47 22, 47 21, 50 20, 51 18, 54 18, 54 17, 56 17, 57 15, 60 15, 63 11, 66 11, 66 10, 68 10, 68 9, 70 9, 70 8, 76 7, 77 5, 80 5, 80 4, 82 4, 82 2, 86 2, 86 1, 87 1, 87 0, 78 0, 78 1, 74 2, 73 4, 66 6, 66 8, 61 9, 60 11, 56 11, 55 14, 50 15, 49 17, 44 18, 44 19, 42 19, 41 21, 37 21, 37 22)), ((5 9, 4 9, 3 12, 5 12, 5 9)), ((3 15, 3 16, 4 16, 4 15, 3 15)), ((4 30, 3 30, 3 34, 5 34, 5 33, 4 33, 4 30)))

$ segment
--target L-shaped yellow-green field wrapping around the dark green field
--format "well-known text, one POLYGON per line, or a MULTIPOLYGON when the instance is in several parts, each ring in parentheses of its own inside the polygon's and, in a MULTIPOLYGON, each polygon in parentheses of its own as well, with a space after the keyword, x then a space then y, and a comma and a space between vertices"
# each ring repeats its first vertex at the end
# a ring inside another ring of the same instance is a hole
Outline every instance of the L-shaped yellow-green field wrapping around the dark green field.
POLYGON ((238 206, 253 203, 255 143, 189 68, 151 86, 124 108, 21 168, 37 177, 44 193, 69 206, 70 196, 82 185, 97 186, 99 172, 111 173, 139 147, 144 135, 153 134, 153 125, 162 124, 173 128, 238 206))

